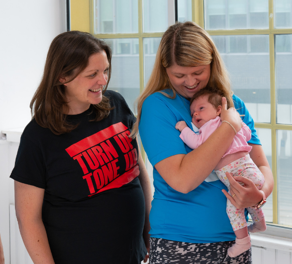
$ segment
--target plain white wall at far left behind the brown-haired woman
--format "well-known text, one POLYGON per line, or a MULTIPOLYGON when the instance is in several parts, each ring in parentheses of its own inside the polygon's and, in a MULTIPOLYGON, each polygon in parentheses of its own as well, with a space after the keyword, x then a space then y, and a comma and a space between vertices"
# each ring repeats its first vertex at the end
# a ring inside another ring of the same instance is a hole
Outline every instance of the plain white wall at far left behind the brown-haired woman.
MULTIPOLYGON (((31 119, 29 103, 41 80, 49 45, 61 33, 60 1, 0 0, 0 138, 2 130, 25 127, 31 119)), ((14 163, 8 162, 8 144, 0 142, 0 234, 7 264, 8 163, 14 163)))

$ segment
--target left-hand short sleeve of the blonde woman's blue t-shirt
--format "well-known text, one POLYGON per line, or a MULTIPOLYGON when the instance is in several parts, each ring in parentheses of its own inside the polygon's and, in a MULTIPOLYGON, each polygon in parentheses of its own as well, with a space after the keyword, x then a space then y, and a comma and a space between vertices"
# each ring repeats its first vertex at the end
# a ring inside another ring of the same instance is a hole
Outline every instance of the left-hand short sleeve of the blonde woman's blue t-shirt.
POLYGON ((157 162, 176 155, 187 154, 180 132, 175 129, 178 120, 171 106, 155 95, 143 103, 139 133, 148 159, 154 166, 157 162))

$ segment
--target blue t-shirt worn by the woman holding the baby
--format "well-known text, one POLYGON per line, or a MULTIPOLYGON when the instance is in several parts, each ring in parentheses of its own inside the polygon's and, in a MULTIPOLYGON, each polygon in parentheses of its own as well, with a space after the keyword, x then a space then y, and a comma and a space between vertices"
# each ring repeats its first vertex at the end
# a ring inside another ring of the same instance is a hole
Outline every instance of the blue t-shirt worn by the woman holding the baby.
MULTIPOLYGON (((172 90, 166 92, 172 95, 172 90)), ((243 122, 251 129, 253 144, 260 144, 254 122, 244 103, 233 96, 243 122)), ((150 212, 151 237, 189 243, 212 243, 235 240, 226 214, 227 190, 212 172, 195 190, 184 194, 171 188, 155 169, 155 164, 176 154, 192 151, 175 129, 178 121, 192 128, 190 101, 177 94, 170 99, 157 92, 143 103, 139 132, 148 159, 153 165, 154 198, 150 212)), ((247 216, 247 214, 246 214, 247 216)))

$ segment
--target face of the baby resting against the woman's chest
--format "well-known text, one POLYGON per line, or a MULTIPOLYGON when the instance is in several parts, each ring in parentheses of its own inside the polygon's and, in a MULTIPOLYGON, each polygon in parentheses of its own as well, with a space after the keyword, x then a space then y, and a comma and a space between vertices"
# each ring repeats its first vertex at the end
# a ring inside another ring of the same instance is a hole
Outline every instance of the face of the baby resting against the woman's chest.
POLYGON ((208 97, 202 96, 193 101, 190 110, 193 124, 200 129, 205 123, 220 115, 221 106, 215 109, 214 106, 208 102, 208 97))

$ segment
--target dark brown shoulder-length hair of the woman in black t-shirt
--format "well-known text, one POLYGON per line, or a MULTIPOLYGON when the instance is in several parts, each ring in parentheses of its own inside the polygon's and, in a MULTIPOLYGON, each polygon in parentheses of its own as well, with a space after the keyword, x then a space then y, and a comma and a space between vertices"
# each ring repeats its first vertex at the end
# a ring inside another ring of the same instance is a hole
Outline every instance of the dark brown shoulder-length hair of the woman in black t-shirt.
POLYGON ((93 105, 96 114, 93 121, 100 121, 109 115, 109 99, 103 94, 107 88, 111 73, 111 49, 102 40, 87 32, 64 32, 52 41, 44 74, 31 102, 32 118, 38 125, 50 129, 54 134, 71 132, 78 125, 66 121, 64 109, 69 110, 65 96, 65 86, 59 81, 60 77, 68 77, 73 81, 87 66, 91 55, 105 51, 108 67, 107 84, 102 89, 102 100, 93 105))

